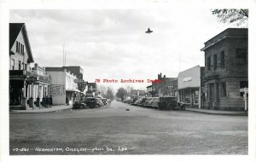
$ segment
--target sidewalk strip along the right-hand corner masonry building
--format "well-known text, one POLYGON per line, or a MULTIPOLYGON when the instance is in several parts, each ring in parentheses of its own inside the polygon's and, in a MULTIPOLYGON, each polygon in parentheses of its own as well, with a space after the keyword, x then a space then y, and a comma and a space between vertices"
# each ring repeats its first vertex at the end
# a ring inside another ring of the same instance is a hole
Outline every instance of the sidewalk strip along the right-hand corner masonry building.
POLYGON ((195 113, 207 113, 207 114, 214 114, 214 115, 248 116, 248 114, 245 112, 235 112, 235 111, 208 110, 208 109, 189 108, 189 107, 186 107, 185 110, 190 112, 195 112, 195 113))

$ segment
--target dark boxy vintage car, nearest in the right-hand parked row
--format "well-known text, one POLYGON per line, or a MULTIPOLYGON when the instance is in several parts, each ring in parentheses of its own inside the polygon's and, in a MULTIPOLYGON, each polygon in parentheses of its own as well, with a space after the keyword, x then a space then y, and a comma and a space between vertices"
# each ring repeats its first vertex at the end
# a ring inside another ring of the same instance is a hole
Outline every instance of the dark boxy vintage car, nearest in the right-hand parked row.
POLYGON ((177 102, 175 96, 161 96, 158 103, 160 110, 173 110, 173 109, 184 109, 184 104, 177 102))

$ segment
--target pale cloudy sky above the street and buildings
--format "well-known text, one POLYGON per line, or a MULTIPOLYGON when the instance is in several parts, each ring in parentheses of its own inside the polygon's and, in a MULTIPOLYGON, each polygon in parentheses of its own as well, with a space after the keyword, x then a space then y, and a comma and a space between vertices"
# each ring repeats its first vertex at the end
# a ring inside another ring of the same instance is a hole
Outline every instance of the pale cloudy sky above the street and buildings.
MULTIPOLYGON (((10 10, 10 22, 25 22, 34 61, 41 67, 84 69, 84 80, 116 79, 101 83, 113 89, 127 87, 120 79, 145 90, 148 79, 162 72, 176 78, 178 72, 200 65, 200 49, 230 25, 220 23, 210 9, 32 9, 10 10), (154 31, 145 33, 148 27, 154 31)), ((234 27, 234 26, 231 26, 234 27)), ((235 26, 236 27, 236 26, 235 26)))

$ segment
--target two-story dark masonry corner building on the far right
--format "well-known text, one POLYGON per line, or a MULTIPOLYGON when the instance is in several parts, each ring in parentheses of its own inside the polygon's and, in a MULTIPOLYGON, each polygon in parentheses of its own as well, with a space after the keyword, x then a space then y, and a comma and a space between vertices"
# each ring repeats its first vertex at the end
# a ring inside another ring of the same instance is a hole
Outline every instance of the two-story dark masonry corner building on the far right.
POLYGON ((205 108, 244 110, 240 89, 248 87, 247 49, 247 28, 228 28, 205 43, 205 108))

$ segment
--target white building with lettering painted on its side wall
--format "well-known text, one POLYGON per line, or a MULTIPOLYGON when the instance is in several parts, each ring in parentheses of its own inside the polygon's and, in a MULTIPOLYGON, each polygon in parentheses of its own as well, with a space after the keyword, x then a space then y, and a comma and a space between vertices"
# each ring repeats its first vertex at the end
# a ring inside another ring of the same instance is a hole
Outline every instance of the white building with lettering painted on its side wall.
POLYGON ((45 67, 45 71, 50 76, 49 94, 52 95, 53 105, 72 105, 83 99, 84 94, 76 83, 78 77, 66 67, 45 67))

